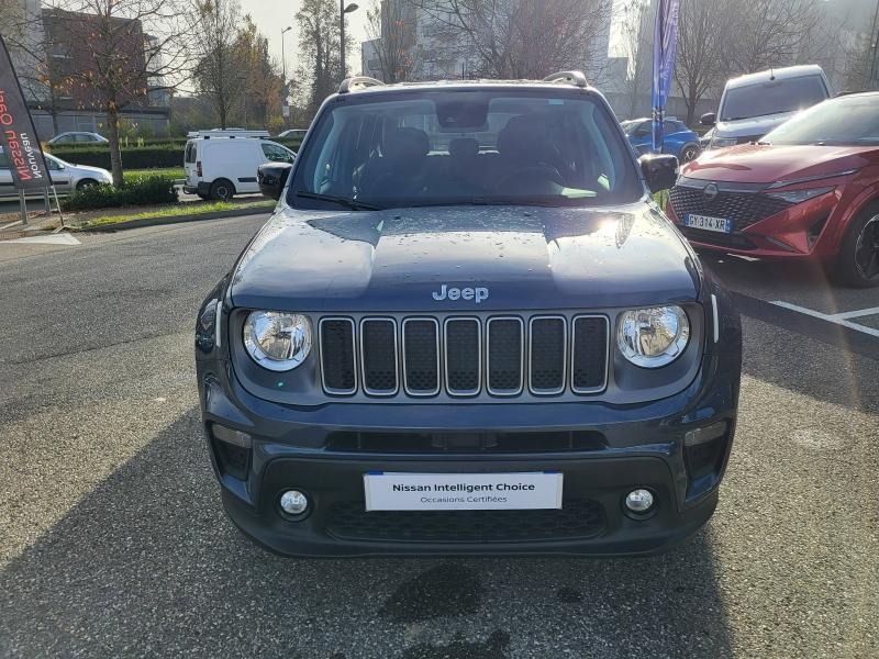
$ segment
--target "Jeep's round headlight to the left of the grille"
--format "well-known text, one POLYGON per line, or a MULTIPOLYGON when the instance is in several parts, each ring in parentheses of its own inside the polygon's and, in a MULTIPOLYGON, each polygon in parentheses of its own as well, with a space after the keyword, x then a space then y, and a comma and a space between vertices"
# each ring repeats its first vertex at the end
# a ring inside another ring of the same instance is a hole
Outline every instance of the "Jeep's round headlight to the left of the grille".
POLYGON ((298 313, 254 311, 244 323, 244 347, 263 368, 292 370, 311 351, 311 323, 298 313))

